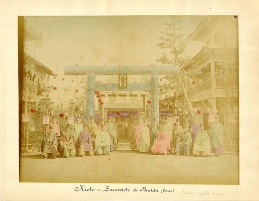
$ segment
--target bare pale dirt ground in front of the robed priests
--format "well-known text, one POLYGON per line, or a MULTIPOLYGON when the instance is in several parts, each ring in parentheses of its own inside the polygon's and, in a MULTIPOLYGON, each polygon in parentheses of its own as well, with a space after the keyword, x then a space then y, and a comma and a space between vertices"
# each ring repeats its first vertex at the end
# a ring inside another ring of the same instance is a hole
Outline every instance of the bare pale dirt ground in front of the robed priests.
POLYGON ((239 184, 238 154, 216 157, 151 155, 128 143, 109 156, 41 159, 22 153, 20 182, 239 184))

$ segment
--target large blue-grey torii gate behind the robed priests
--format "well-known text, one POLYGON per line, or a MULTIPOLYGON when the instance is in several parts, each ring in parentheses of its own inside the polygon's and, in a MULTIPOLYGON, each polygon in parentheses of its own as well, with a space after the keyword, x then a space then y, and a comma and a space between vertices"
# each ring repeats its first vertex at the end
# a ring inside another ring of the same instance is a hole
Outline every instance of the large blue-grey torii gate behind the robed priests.
POLYGON ((95 90, 150 90, 151 117, 159 121, 158 75, 175 74, 176 65, 160 66, 65 66, 65 75, 87 75, 86 118, 94 116, 95 90), (151 83, 128 83, 127 88, 119 88, 118 83, 96 83, 95 75, 151 75, 151 83))

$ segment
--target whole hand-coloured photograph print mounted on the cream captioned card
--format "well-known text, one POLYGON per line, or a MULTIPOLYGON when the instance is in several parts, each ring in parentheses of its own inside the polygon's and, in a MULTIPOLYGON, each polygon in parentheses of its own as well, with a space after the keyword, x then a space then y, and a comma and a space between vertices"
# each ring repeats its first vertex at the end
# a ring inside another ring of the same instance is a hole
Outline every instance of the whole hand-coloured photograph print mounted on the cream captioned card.
POLYGON ((20 182, 239 184, 238 16, 19 16, 20 182))

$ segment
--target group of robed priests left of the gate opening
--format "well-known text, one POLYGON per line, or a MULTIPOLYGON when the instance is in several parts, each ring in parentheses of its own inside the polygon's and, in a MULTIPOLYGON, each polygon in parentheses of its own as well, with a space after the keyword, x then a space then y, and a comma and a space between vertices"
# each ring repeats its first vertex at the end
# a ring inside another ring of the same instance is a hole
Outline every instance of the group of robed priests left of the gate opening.
POLYGON ((75 124, 69 124, 66 117, 60 126, 52 117, 41 142, 42 159, 54 159, 58 155, 65 158, 109 155, 110 151, 117 148, 117 129, 112 119, 109 118, 106 125, 102 121, 97 126, 93 116, 89 123, 81 123, 77 117, 75 124))

